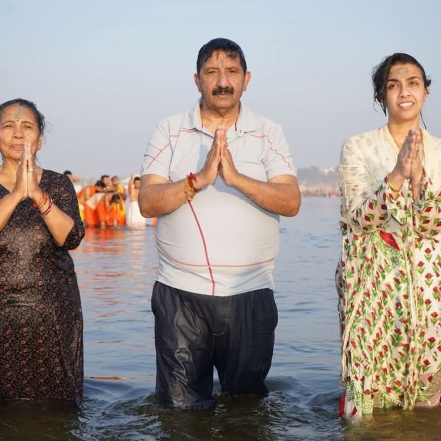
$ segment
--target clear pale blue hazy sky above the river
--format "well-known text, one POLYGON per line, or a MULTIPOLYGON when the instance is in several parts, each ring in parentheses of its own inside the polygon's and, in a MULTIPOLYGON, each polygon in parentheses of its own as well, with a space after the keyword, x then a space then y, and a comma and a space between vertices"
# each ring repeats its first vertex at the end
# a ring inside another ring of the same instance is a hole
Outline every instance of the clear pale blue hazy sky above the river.
POLYGON ((251 71, 243 104, 281 124, 297 167, 336 167, 346 138, 386 122, 371 75, 394 52, 432 79, 423 117, 441 136, 439 17, 438 0, 1 0, 0 102, 45 115, 43 168, 139 173, 156 124, 199 97, 200 47, 225 37, 251 71))

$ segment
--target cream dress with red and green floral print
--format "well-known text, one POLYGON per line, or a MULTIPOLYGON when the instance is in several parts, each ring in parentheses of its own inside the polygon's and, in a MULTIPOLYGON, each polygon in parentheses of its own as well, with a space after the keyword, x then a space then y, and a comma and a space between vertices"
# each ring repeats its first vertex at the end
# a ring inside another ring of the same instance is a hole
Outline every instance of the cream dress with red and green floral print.
POLYGON ((412 409, 441 390, 441 140, 423 130, 413 201, 387 174, 398 149, 387 126, 349 138, 339 173, 342 255, 336 272, 342 338, 341 415, 412 409))

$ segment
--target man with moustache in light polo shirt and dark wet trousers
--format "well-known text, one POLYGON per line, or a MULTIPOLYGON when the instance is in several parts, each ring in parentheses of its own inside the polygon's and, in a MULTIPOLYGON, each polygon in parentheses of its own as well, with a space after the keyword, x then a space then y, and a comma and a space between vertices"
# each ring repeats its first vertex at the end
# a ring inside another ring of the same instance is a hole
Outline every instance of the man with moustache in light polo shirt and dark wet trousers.
POLYGON ((200 100, 160 122, 144 155, 140 211, 160 216, 156 398, 168 407, 212 408, 213 366, 230 396, 268 392, 279 215, 301 197, 281 127, 240 103, 250 77, 236 43, 202 46, 200 100))

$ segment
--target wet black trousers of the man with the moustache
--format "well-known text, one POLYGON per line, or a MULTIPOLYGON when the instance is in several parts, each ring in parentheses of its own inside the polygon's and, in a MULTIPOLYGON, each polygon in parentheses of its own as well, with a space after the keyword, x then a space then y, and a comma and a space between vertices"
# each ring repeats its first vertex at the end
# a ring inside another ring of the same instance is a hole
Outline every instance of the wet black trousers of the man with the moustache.
POLYGON ((277 307, 271 289, 195 294, 156 282, 156 399, 179 409, 214 407, 213 366, 231 396, 266 394, 277 307))

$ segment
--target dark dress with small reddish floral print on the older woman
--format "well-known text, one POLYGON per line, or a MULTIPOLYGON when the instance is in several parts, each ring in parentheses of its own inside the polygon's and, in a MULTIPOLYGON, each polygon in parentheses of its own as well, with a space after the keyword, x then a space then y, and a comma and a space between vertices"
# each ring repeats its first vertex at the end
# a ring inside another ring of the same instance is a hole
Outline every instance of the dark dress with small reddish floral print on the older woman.
MULTIPOLYGON (((83 317, 68 249, 83 236, 67 176, 43 170, 40 187, 74 225, 58 246, 30 199, 0 232, 0 399, 83 395, 83 317)), ((0 185, 0 198, 9 191, 0 185)))

